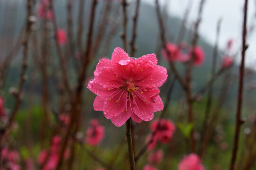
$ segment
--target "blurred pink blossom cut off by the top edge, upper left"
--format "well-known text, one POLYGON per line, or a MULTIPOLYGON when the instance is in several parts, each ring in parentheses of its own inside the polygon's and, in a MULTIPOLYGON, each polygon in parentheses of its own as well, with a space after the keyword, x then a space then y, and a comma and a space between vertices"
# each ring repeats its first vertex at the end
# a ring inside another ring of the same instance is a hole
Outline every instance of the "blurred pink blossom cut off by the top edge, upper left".
POLYGON ((54 17, 53 11, 49 9, 49 0, 41 0, 37 9, 37 15, 40 18, 52 20, 54 17))

